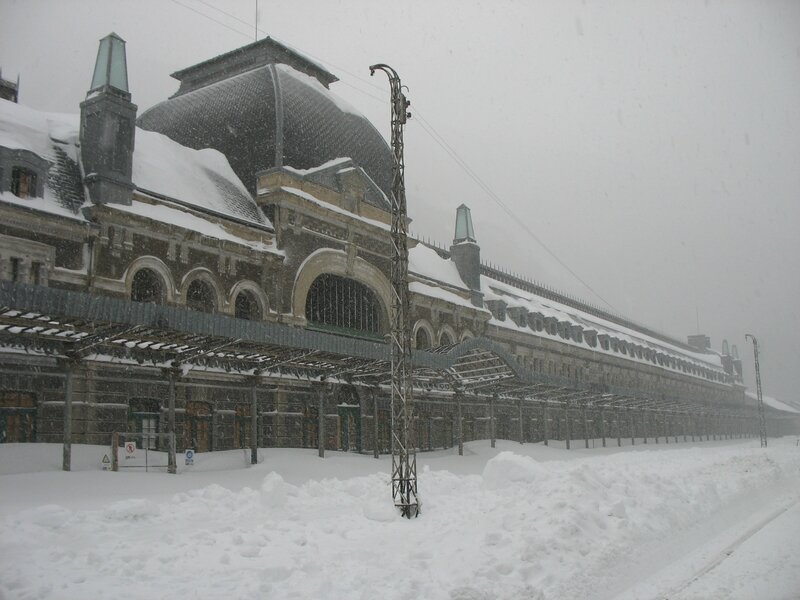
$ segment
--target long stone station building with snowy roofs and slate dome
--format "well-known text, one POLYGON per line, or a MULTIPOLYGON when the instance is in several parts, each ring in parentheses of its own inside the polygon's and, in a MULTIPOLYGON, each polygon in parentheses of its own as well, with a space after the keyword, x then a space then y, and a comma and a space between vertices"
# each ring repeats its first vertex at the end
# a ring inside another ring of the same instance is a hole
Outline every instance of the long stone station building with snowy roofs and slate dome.
MULTIPOLYGON (((79 147, 77 116, 0 101, 3 177, 11 160, 3 157, 28 156, 41 173, 35 195, 0 188, 0 278, 382 339, 391 306, 386 143, 329 91, 335 77, 273 40, 197 67, 177 74, 181 91, 146 111, 133 130, 132 191, 125 202, 87 193, 91 173, 82 155, 96 148, 79 147), (259 99, 253 90, 265 82, 272 95, 259 99), (220 104, 221 90, 239 90, 247 99, 231 128, 223 127, 232 109, 220 104), (202 118, 188 123, 198 105, 202 118), (250 122, 265 116, 266 125, 250 122), (321 146, 315 145, 319 136, 321 146), (348 312, 352 303, 374 319, 361 323, 348 312)), ((485 337, 523 369, 588 383, 600 394, 621 387, 708 406, 745 404, 740 378, 726 372, 718 353, 481 265, 471 222, 468 229, 468 239, 459 241, 469 252, 457 260, 409 240, 415 348, 485 337), (469 265, 459 269, 462 259, 469 265)), ((312 383, 277 375, 265 381, 258 390, 260 445, 316 446, 319 401, 312 383)), ((57 357, 13 344, 0 348, 0 411, 33 410, 34 439, 60 440, 63 382, 57 357), (26 404, 31 398, 33 408, 26 404)), ((82 361, 75 382, 76 442, 105 444, 111 432, 131 428, 165 430, 167 384, 157 365, 95 356, 82 361)), ((246 377, 236 372, 182 373, 178 446, 249 445, 249 394, 246 377)), ((419 447, 456 443, 457 410, 463 439, 489 437, 489 396, 490 390, 461 398, 457 407, 452 394, 420 393, 419 447)), ((511 401, 493 410, 499 437, 545 435, 538 412, 526 409, 521 423, 522 409, 511 401)), ((339 382, 323 399, 323 411, 327 447, 388 450, 385 390, 339 382)), ((588 427, 576 435, 597 434, 596 424, 591 432, 588 427)), ((553 417, 549 435, 566 435, 563 415, 553 417)), ((6 435, 4 441, 13 440, 6 435)))

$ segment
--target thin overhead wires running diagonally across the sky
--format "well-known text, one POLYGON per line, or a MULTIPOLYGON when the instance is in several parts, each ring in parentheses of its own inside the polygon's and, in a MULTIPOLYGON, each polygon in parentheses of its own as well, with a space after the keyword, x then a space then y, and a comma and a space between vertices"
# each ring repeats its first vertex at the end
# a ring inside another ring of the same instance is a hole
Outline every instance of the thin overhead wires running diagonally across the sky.
MULTIPOLYGON (((247 25, 248 27, 251 25, 249 22, 247 22, 247 21, 237 17, 236 15, 233 15, 233 14, 231 14, 231 13, 229 13, 229 12, 227 12, 227 11, 221 9, 221 8, 219 8, 218 6, 214 6, 213 4, 211 4, 209 2, 206 2, 205 0, 195 0, 195 1, 200 3, 200 4, 202 4, 202 5, 204 5, 204 6, 206 6, 206 7, 208 7, 208 8, 211 8, 212 10, 217 11, 218 13, 221 13, 221 14, 233 19, 234 21, 237 21, 239 23, 247 25)), ((213 22, 215 22, 215 23, 217 23, 217 24, 219 24, 219 25, 221 25, 221 26, 223 26, 223 27, 235 32, 235 33, 238 33, 239 35, 247 37, 248 39, 250 38, 250 34, 244 33, 243 31, 240 31, 240 30, 238 30, 238 29, 236 29, 234 27, 231 27, 230 25, 227 25, 226 23, 223 23, 222 21, 220 21, 218 19, 215 19, 214 17, 212 17, 212 16, 210 16, 210 15, 208 15, 206 13, 203 13, 203 12, 201 12, 201 11, 195 9, 195 8, 192 8, 191 6, 189 6, 187 4, 183 4, 182 2, 179 2, 178 0, 172 0, 172 2, 177 4, 178 6, 182 6, 183 8, 191 10, 192 12, 194 12, 194 13, 202 16, 202 17, 205 17, 206 19, 209 19, 210 21, 213 21, 213 22)), ((255 27, 255 30, 258 33, 266 35, 266 32, 264 30, 262 30, 261 28, 259 28, 257 25, 255 27)), ((363 94, 363 95, 365 95, 365 96, 367 96, 367 97, 369 97, 369 98, 371 98, 371 99, 373 99, 373 100, 375 100, 377 102, 385 102, 386 101, 385 98, 387 98, 388 96, 386 95, 386 92, 385 92, 385 90, 383 90, 383 88, 373 84, 372 82, 370 82, 367 79, 364 79, 363 77, 360 77, 359 75, 356 75, 355 73, 350 72, 349 70, 347 70, 347 69, 345 69, 345 68, 343 68, 341 66, 338 66, 338 65, 335 65, 335 64, 331 63, 330 61, 328 61, 326 59, 314 56, 313 54, 311 54, 309 52, 304 52, 304 54, 310 56, 314 60, 317 60, 317 61, 322 62, 322 63, 326 63, 326 64, 330 65, 331 67, 333 67, 334 69, 336 69, 337 71, 340 71, 342 73, 346 73, 350 77, 353 77, 354 79, 357 79, 358 81, 370 86, 371 88, 374 88, 374 89, 380 91, 382 94, 384 94, 384 97, 383 98, 379 98, 378 96, 375 96, 374 94, 366 92, 366 91, 362 90, 361 88, 359 88, 359 87, 357 87, 357 86, 355 86, 355 85, 353 85, 351 83, 348 83, 346 81, 341 81, 341 83, 346 85, 347 87, 350 87, 350 88, 356 90, 357 92, 360 92, 361 94, 363 94)), ((416 103, 415 103, 415 106, 416 106, 416 103)), ((549 246, 539 238, 538 235, 536 235, 533 232, 533 230, 525 223, 525 221, 523 219, 521 219, 520 217, 518 217, 514 213, 514 211, 505 202, 503 202, 503 200, 489 187, 489 185, 485 181, 483 181, 483 179, 481 179, 481 177, 472 169, 472 167, 470 167, 469 164, 464 159, 461 158, 461 156, 458 154, 458 152, 456 152, 456 150, 447 142, 447 140, 444 138, 444 136, 442 136, 436 130, 436 128, 427 119, 425 119, 425 117, 420 112, 419 108, 415 108, 414 115, 417 117, 416 121, 420 124, 421 129, 442 150, 444 150, 444 152, 453 160, 453 162, 455 162, 456 165, 462 171, 464 171, 464 173, 466 173, 467 176, 481 190, 483 190, 483 192, 489 197, 490 200, 492 200, 495 204, 497 204, 497 206, 499 206, 500 209, 512 221, 516 222, 520 226, 520 228, 522 228, 522 230, 531 237, 531 239, 533 239, 539 246, 541 246, 545 250, 545 252, 547 252, 548 255, 550 255, 562 268, 564 268, 564 270, 566 270, 570 275, 572 275, 572 277, 574 277, 578 282, 580 282, 581 285, 583 285, 587 290, 589 290, 592 294, 594 294, 594 296, 596 298, 598 298, 601 302, 603 302, 606 306, 608 306, 609 308, 611 308, 615 312, 619 312, 614 307, 613 304, 611 304, 602 295, 600 295, 597 291, 595 291, 594 288, 592 288, 592 286, 590 286, 580 275, 578 275, 574 270, 572 270, 569 267, 569 265, 567 265, 563 260, 561 260, 558 257, 558 255, 553 250, 551 250, 549 248, 549 246)))

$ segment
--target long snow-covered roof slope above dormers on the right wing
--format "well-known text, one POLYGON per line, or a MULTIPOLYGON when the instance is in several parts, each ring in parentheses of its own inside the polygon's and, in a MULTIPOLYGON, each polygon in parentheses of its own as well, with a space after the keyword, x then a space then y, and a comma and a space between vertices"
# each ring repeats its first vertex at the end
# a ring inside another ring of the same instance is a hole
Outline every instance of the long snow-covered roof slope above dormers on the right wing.
MULTIPOLYGON (((521 306, 526 308, 529 312, 538 312, 545 317, 554 317, 559 321, 568 321, 574 325, 580 325, 584 329, 594 330, 598 335, 605 334, 629 344, 644 346, 662 352, 670 358, 689 360, 702 368, 710 368, 717 371, 722 370, 722 359, 716 352, 703 353, 686 350, 571 306, 566 306, 554 300, 542 298, 530 292, 526 292, 525 290, 520 290, 519 288, 491 279, 485 275, 481 276, 481 291, 483 292, 484 300, 503 300, 509 306, 521 306)), ((493 322, 503 327, 519 328, 509 319, 506 319, 506 321, 497 321, 493 319, 493 322)), ((539 332, 533 332, 527 327, 524 329, 536 335, 544 335, 539 332)), ((592 348, 592 350, 603 351, 599 346, 597 348, 592 348)), ((623 356, 631 358, 629 354, 623 356)))

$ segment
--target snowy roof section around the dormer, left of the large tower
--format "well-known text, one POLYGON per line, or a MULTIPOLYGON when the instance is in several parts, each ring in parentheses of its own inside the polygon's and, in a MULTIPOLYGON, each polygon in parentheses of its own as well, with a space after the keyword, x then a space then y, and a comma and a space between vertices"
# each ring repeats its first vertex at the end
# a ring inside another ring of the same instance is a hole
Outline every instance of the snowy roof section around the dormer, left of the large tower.
POLYGON ((78 167, 78 115, 46 113, 15 102, 0 101, 0 146, 35 154, 49 163, 43 198, 3 201, 59 216, 83 220, 83 184, 78 167))

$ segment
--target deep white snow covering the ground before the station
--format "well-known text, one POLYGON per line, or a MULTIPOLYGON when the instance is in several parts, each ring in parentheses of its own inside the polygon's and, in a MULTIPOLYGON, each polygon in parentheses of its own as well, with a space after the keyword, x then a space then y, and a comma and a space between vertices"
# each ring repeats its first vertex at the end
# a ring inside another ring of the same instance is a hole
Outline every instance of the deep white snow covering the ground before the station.
MULTIPOLYGON (((388 458, 197 455, 178 475, 108 450, 0 446, 0 599, 800 598, 795 438, 418 455, 422 515, 388 458)), ((161 460, 151 455, 152 461, 161 460)))

